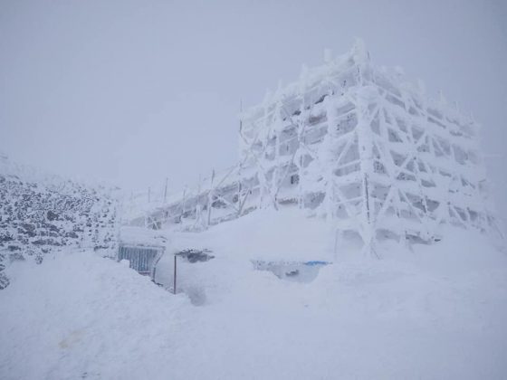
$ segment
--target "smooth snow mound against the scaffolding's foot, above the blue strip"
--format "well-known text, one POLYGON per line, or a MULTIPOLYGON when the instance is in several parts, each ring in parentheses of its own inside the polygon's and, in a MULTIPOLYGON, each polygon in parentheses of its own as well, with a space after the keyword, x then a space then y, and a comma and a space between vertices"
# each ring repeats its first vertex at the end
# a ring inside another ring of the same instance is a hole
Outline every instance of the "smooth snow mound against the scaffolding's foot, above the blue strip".
POLYGON ((332 261, 334 235, 329 223, 298 209, 260 210, 203 233, 174 233, 175 247, 211 248, 247 261, 332 261))

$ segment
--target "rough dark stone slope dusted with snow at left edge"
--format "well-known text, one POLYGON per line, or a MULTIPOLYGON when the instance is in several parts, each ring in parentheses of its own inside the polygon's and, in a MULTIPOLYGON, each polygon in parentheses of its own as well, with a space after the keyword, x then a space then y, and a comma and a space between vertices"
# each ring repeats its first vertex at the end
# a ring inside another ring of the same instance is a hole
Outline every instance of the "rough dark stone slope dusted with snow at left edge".
POLYGON ((43 261, 62 247, 113 252, 117 205, 114 190, 48 176, 0 156, 0 289, 5 267, 43 261))

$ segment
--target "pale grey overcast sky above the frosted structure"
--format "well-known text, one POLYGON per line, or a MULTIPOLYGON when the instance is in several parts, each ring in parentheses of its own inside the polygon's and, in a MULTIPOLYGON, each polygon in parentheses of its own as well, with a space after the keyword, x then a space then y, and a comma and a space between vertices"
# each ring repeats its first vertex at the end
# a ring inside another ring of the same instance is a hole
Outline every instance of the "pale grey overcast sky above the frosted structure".
POLYGON ((0 1, 0 151, 125 188, 234 164, 236 115, 359 36, 483 124, 507 206, 507 7, 476 1, 0 1))

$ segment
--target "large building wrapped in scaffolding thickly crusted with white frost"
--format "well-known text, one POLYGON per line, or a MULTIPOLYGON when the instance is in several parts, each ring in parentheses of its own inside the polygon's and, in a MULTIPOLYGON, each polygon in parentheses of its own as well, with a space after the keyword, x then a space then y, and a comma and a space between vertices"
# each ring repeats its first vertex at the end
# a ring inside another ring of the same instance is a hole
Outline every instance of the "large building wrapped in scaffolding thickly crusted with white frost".
POLYGON ((362 43, 241 114, 240 161, 145 215, 150 226, 206 228, 255 209, 299 207, 339 236, 432 242, 443 223, 496 228, 478 126, 362 43))

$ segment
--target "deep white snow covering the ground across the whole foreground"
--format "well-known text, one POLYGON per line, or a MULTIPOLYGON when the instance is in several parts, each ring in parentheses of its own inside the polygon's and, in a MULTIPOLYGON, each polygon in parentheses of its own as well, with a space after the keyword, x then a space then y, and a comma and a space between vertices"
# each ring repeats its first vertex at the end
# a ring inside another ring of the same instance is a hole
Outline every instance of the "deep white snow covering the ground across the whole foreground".
POLYGON ((215 255, 180 263, 176 296, 93 252, 16 262, 0 291, 0 378, 506 378, 507 257, 445 235, 386 245, 378 261, 335 254, 319 220, 253 213, 170 234, 158 282, 172 280, 172 251, 215 255), (333 264, 299 283, 251 260, 333 264))

